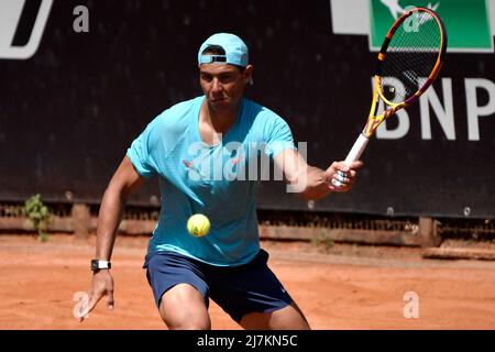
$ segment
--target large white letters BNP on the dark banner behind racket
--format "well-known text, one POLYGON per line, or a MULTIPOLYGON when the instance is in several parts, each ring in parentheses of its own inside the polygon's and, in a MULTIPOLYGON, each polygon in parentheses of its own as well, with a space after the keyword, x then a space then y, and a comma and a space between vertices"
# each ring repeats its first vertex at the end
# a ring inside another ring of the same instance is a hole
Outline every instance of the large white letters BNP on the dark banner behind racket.
MULTIPOLYGON (((391 78, 387 78, 389 81, 391 78)), ((426 78, 421 78, 420 84, 426 78)), ((373 81, 373 78, 372 78, 373 81)), ((395 82, 397 84, 397 82, 395 82)), ((395 85, 394 84, 394 85, 395 85)), ((455 113, 453 106, 453 87, 452 78, 444 77, 437 81, 436 87, 442 89, 442 101, 440 100, 436 88, 430 87, 419 98, 419 114, 420 114, 420 128, 421 139, 431 140, 433 135, 431 133, 431 112, 439 121, 444 136, 449 141, 455 141, 458 134, 455 132, 455 113)), ((486 78, 465 78, 465 99, 466 99, 466 116, 468 116, 468 140, 480 141, 480 117, 488 117, 495 114, 495 82, 486 78), (488 96, 488 100, 485 105, 481 106, 477 99, 477 90, 483 89, 488 96)), ((459 96, 459 95, 457 95, 459 96)), ((407 108, 406 108, 407 109, 407 108)), ((409 132, 410 120, 406 109, 402 109, 396 112, 394 123, 397 125, 391 129, 389 122, 385 121, 376 130, 376 138, 380 140, 399 140, 406 136, 409 132), (388 122, 388 125, 387 125, 388 122)), ((382 113, 384 110, 383 101, 378 103, 377 113, 382 113)), ((457 113, 463 116, 463 113, 457 113)), ((494 117, 495 118, 495 117, 494 117)), ((415 121, 415 119, 414 119, 415 121)), ((438 138, 438 136, 437 136, 438 138)))

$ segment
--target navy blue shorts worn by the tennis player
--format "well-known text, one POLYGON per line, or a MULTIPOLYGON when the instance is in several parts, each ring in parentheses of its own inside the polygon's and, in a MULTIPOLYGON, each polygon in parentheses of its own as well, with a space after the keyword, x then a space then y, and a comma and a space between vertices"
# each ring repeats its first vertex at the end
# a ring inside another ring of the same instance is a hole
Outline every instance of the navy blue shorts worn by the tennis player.
POLYGON ((240 322, 250 312, 270 312, 289 305, 293 299, 267 266, 268 253, 260 250, 250 263, 223 267, 164 251, 146 255, 144 266, 156 306, 163 294, 178 284, 190 284, 209 297, 233 320, 240 322))

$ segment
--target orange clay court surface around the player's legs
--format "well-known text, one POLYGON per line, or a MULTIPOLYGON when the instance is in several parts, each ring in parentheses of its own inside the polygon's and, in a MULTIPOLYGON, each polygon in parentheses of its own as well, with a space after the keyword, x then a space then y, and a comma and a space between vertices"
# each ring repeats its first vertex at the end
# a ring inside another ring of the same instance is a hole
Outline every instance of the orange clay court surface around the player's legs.
MULTIPOLYGON (((73 316, 87 290, 94 242, 52 235, 0 235, 0 329, 165 329, 141 268, 145 238, 119 238, 113 252, 116 309, 100 302, 73 316)), ((495 263, 422 260, 419 250, 263 243, 270 265, 314 329, 495 329, 495 263), (419 297, 406 319, 404 295, 419 297)), ((213 302, 212 328, 240 329, 213 302)))

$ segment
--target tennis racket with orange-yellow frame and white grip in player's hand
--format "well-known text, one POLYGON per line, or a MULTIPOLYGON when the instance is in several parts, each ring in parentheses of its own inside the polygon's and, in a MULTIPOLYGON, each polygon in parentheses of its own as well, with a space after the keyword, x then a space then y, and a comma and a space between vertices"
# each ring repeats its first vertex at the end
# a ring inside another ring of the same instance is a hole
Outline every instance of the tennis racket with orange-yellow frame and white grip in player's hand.
POLYGON ((360 158, 383 121, 414 103, 431 86, 442 67, 446 50, 446 28, 435 11, 413 8, 395 21, 377 57, 370 116, 345 158, 348 166, 360 158), (385 109, 376 114, 380 100, 385 109))

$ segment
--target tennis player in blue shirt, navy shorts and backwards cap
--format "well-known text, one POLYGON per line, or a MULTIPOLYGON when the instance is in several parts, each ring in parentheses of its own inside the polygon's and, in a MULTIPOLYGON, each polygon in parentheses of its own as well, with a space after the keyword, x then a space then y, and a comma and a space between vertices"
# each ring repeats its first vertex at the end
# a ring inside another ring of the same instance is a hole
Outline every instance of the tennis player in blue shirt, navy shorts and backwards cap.
POLYGON ((155 302, 170 329, 209 329, 209 298, 245 329, 309 329, 296 302, 267 266, 256 218, 260 157, 271 157, 293 191, 318 199, 349 190, 361 162, 306 164, 287 123, 243 97, 252 82, 244 42, 228 33, 198 52, 204 96, 155 118, 132 143, 105 193, 98 218, 95 272, 82 317, 107 297, 113 309, 110 257, 128 196, 160 177, 162 211, 145 258, 155 302), (188 233, 202 213, 211 230, 188 233))

